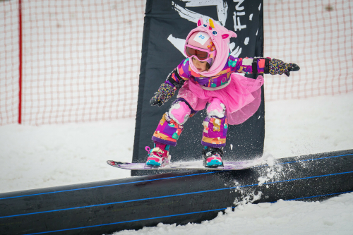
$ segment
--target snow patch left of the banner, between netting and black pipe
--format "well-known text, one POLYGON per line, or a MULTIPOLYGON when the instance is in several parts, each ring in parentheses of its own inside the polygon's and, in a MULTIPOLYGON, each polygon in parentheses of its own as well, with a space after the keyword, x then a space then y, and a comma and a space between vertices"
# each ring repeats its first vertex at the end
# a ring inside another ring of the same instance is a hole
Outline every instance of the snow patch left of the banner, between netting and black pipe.
POLYGON ((131 162, 134 119, 0 126, 0 193, 130 176, 108 159, 131 162))

